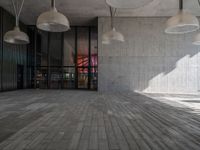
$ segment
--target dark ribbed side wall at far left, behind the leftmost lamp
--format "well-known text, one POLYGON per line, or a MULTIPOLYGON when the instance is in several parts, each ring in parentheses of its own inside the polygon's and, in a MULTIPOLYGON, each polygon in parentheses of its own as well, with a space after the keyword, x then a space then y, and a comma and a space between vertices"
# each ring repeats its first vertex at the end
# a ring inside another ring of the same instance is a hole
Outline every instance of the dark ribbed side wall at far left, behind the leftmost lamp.
MULTIPOLYGON (((27 46, 12 45, 3 41, 3 36, 13 29, 15 18, 0 8, 0 91, 27 87, 27 46)), ((20 23, 21 30, 26 26, 20 23)))

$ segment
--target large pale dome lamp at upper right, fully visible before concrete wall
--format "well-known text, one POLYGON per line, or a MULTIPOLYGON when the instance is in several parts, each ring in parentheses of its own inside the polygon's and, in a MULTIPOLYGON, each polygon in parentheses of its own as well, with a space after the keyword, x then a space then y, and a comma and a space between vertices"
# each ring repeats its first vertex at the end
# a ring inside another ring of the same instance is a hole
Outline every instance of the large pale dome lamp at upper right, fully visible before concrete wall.
POLYGON ((199 21, 196 16, 183 9, 183 0, 179 0, 179 12, 167 21, 167 34, 184 34, 199 29, 199 21))

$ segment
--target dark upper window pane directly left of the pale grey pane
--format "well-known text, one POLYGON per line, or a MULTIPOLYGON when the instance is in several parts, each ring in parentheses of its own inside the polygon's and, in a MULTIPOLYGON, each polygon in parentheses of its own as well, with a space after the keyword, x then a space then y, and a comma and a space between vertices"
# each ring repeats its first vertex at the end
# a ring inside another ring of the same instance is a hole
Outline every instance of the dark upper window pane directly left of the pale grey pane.
POLYGON ((62 33, 50 33, 50 66, 62 65, 62 33))

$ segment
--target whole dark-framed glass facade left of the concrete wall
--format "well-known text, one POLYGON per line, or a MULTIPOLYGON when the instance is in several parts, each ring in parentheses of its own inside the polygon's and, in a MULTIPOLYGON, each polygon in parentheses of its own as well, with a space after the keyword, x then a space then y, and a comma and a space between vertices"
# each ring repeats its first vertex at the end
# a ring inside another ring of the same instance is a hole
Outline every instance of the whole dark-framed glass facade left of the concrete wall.
POLYGON ((65 33, 29 28, 31 88, 97 90, 97 28, 72 27, 65 33))

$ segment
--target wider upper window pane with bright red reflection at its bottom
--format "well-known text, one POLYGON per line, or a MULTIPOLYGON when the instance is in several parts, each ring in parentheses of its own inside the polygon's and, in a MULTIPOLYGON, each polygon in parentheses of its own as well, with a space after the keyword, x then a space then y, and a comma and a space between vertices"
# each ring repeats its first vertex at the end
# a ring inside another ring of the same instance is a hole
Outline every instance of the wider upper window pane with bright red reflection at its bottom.
POLYGON ((77 65, 80 67, 88 66, 89 54, 89 30, 88 28, 78 28, 78 41, 77 41, 77 65))

